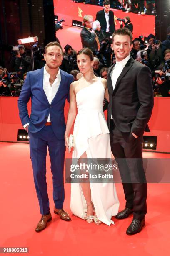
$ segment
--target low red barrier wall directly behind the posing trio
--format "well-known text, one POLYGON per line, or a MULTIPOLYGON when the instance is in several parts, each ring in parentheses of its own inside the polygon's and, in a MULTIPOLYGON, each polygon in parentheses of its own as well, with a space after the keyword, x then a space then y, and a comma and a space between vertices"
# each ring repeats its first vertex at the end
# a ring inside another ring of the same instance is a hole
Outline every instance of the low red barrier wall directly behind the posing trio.
MULTIPOLYGON (((150 133, 144 135, 158 136, 157 150, 170 153, 170 119, 169 98, 155 97, 152 117, 149 121, 150 133)), ((31 104, 28 102, 30 113, 31 104)), ((69 104, 65 104, 67 120, 69 104)), ((105 112, 106 114, 106 112, 105 112)), ((18 97, 0 97, 0 141, 17 141, 18 129, 23 129, 18 112, 18 97)))

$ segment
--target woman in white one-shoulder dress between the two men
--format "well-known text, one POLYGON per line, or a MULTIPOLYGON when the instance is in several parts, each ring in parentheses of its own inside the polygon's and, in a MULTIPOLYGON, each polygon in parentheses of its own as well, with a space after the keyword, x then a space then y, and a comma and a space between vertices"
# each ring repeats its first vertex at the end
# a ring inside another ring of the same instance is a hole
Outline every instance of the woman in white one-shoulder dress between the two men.
MULTIPOLYGON (((75 120, 72 158, 111 159, 110 135, 103 113, 103 99, 106 97, 108 100, 107 80, 94 75, 90 49, 85 48, 77 53, 77 65, 82 77, 70 85, 65 145, 68 148, 70 129, 75 120)), ((74 215, 88 223, 114 224, 111 218, 117 215, 119 209, 115 184, 71 184, 70 208, 74 215)))

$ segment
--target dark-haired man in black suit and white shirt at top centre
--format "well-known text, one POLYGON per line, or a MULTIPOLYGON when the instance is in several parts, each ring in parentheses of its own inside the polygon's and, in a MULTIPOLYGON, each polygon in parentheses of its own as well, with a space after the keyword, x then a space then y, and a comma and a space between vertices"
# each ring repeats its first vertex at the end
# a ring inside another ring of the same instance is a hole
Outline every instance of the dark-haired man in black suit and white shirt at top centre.
POLYGON ((115 31, 114 13, 110 10, 110 1, 103 1, 103 10, 96 13, 96 20, 100 22, 101 29, 105 36, 109 38, 115 31))

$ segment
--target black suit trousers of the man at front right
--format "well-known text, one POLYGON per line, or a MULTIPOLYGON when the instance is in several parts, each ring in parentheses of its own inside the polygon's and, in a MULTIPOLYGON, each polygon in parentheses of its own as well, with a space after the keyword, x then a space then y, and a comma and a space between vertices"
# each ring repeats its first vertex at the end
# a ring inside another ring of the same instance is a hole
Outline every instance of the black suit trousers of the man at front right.
POLYGON ((110 144, 122 179, 126 207, 133 209, 135 219, 142 220, 147 212, 147 183, 143 168, 143 135, 135 138, 123 133, 111 120, 110 144))

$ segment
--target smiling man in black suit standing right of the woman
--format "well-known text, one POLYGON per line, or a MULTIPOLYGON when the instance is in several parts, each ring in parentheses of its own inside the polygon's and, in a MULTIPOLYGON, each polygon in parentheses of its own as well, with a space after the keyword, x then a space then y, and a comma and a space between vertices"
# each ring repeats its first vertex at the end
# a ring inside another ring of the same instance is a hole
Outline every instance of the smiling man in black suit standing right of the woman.
POLYGON ((148 121, 153 109, 153 85, 150 69, 130 57, 132 33, 117 29, 112 37, 116 64, 108 70, 109 105, 107 123, 112 153, 117 160, 123 189, 125 209, 116 215, 133 220, 126 233, 132 235, 145 225, 147 183, 143 169, 143 133, 149 131, 148 121))

